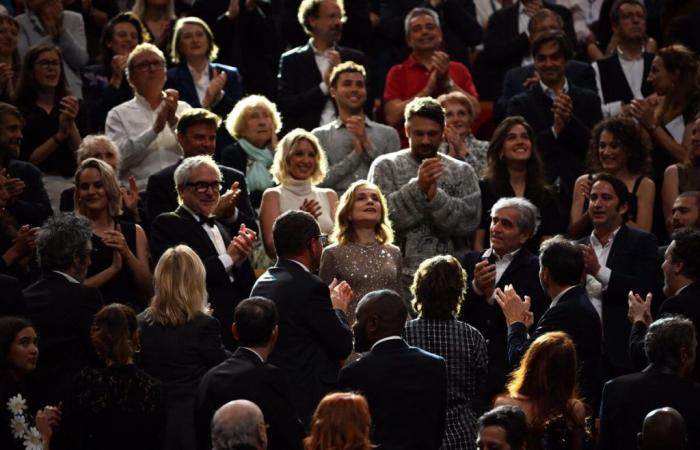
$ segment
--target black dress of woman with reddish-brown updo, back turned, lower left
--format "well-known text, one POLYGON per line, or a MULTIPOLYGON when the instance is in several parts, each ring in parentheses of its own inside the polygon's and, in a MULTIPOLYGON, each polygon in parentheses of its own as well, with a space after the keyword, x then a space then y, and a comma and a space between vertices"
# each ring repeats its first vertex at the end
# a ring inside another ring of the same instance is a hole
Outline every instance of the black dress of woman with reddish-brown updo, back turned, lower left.
POLYGON ((133 364, 83 369, 64 408, 62 448, 160 449, 164 400, 161 383, 133 364))

